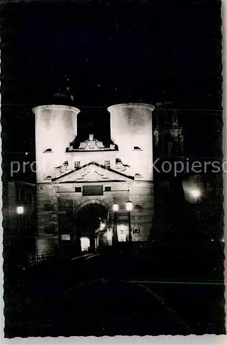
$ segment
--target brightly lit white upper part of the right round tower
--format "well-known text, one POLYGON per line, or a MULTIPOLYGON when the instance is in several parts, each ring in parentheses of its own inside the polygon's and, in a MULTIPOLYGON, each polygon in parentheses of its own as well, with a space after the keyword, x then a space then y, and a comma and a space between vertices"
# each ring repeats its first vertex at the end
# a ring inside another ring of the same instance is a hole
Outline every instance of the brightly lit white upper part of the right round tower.
POLYGON ((118 145, 119 159, 130 166, 131 175, 153 181, 154 106, 124 103, 110 106, 111 140, 118 145))

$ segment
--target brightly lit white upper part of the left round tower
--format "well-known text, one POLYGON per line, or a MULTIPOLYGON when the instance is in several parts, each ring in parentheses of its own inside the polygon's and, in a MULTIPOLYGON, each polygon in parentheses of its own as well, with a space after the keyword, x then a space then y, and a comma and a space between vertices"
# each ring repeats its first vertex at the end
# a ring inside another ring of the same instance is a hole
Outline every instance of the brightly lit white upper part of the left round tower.
POLYGON ((77 115, 72 106, 37 106, 35 115, 36 181, 52 175, 53 166, 63 164, 65 149, 77 135, 77 115))

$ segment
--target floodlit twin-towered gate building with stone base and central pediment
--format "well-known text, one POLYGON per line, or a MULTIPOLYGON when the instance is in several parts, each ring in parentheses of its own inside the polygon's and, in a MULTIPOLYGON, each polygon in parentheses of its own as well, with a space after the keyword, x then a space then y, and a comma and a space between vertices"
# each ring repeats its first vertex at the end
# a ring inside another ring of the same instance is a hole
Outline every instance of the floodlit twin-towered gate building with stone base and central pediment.
POLYGON ((133 203, 132 242, 147 242, 153 227, 153 109, 144 103, 110 106, 108 146, 89 131, 79 140, 78 108, 33 109, 39 254, 66 245, 78 250, 111 245, 116 222, 114 238, 127 242, 127 201, 133 203))

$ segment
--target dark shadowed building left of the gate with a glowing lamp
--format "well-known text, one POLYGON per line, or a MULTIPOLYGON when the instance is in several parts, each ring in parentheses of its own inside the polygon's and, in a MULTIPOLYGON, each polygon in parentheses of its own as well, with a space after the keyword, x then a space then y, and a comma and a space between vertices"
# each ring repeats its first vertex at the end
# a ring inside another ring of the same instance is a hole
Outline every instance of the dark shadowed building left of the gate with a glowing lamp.
POLYGON ((36 253, 36 186, 24 181, 3 184, 4 251, 10 247, 9 260, 25 264, 36 253))

